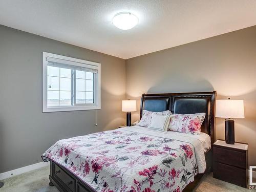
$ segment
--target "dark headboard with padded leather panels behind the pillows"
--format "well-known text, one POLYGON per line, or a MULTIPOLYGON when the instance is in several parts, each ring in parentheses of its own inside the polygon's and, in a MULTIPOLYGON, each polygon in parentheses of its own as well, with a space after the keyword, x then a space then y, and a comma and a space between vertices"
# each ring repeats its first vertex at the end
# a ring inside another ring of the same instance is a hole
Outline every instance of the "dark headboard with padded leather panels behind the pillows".
POLYGON ((143 94, 141 97, 140 119, 143 110, 166 111, 178 114, 205 113, 201 132, 211 137, 215 142, 215 105, 216 91, 195 93, 160 93, 143 94))

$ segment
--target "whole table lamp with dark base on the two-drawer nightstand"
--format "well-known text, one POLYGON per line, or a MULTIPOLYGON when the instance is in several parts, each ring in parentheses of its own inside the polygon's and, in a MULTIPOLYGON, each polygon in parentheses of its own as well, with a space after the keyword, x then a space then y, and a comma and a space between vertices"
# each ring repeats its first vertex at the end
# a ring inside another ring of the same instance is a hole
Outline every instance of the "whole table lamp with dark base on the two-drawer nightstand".
POLYGON ((244 100, 220 99, 216 101, 216 117, 225 119, 225 140, 234 144, 234 119, 244 118, 244 100))

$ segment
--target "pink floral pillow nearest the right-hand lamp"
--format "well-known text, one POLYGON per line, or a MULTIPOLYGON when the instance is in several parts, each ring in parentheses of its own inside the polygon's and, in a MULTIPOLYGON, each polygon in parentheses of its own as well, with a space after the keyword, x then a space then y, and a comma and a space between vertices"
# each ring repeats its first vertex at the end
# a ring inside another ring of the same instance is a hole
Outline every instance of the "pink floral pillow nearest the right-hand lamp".
POLYGON ((205 113, 170 115, 168 131, 200 135, 205 113))

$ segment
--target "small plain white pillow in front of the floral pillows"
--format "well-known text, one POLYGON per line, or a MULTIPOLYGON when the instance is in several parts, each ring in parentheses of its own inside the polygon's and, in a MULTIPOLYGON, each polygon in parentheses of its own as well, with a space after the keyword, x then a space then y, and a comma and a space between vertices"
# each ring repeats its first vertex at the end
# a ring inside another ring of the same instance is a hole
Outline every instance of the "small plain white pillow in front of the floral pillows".
POLYGON ((166 132, 169 126, 169 115, 153 115, 152 121, 148 129, 166 132))

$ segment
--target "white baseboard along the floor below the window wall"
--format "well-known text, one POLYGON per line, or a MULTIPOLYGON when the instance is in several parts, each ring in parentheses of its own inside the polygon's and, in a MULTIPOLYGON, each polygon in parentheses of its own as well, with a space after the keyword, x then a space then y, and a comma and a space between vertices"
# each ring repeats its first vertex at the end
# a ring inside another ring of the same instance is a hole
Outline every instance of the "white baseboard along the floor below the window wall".
POLYGON ((13 177, 15 175, 20 175, 20 174, 23 174, 26 172, 30 172, 30 170, 35 170, 35 169, 49 166, 49 165, 50 165, 49 162, 40 162, 40 163, 35 163, 32 165, 25 166, 25 167, 20 167, 20 168, 14 169, 14 170, 10 170, 9 172, 0 174, 0 180, 7 179, 9 177, 13 177))

